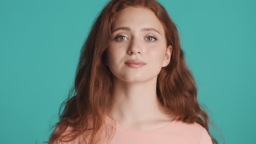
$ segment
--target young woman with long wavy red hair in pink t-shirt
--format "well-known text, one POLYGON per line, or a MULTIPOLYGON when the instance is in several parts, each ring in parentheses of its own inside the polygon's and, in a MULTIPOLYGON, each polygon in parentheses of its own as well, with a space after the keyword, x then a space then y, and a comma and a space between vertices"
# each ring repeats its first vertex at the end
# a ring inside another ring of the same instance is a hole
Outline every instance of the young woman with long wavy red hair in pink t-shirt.
POLYGON ((72 90, 50 144, 217 143, 177 28, 155 0, 106 5, 83 46, 72 90))

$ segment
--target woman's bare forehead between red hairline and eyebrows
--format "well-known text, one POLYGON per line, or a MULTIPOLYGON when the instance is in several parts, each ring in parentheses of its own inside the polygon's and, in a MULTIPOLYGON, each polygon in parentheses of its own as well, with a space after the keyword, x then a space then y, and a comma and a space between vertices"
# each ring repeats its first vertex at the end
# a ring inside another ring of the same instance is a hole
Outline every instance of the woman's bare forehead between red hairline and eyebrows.
POLYGON ((115 15, 112 28, 129 27, 133 30, 150 27, 157 29, 161 34, 164 33, 162 23, 152 10, 147 8, 129 7, 125 8, 115 15))

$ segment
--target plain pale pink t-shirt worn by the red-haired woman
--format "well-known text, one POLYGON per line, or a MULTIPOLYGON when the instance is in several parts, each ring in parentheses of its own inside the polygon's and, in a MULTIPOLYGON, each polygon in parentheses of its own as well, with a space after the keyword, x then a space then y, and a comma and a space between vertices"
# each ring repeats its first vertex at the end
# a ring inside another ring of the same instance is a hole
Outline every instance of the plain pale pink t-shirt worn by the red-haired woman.
MULTIPOLYGON (((108 122, 113 122, 107 117, 108 122)), ((198 123, 188 124, 178 121, 178 116, 173 122, 164 127, 139 131, 123 127, 117 124, 117 129, 110 141, 111 144, 212 144, 207 130, 198 123)), ((62 142, 61 144, 82 144, 81 140, 73 142, 62 142)), ((55 144, 55 143, 54 143, 55 144)))

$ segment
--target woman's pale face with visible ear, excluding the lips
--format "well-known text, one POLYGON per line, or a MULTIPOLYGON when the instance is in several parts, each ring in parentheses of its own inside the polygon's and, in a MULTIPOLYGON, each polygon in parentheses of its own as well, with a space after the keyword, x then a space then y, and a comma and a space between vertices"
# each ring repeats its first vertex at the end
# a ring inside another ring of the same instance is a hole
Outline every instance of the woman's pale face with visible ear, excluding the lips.
POLYGON ((107 65, 118 79, 147 81, 170 63, 172 47, 166 47, 164 28, 150 9, 125 8, 116 15, 112 27, 107 65), (130 59, 146 64, 134 68, 125 64, 130 59))

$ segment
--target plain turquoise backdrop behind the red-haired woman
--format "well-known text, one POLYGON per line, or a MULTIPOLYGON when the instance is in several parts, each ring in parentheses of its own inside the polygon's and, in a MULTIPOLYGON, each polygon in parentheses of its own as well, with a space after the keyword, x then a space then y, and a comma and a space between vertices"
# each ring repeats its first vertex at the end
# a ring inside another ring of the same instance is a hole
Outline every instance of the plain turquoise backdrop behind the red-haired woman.
MULTIPOLYGON (((0 1, 1 143, 43 143, 107 1, 0 1)), ((159 1, 226 143, 255 143, 256 2, 159 1)), ((221 137, 216 134, 219 143, 221 137)))

